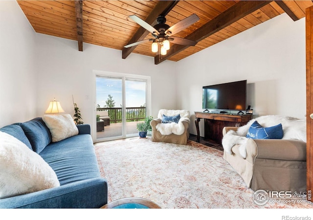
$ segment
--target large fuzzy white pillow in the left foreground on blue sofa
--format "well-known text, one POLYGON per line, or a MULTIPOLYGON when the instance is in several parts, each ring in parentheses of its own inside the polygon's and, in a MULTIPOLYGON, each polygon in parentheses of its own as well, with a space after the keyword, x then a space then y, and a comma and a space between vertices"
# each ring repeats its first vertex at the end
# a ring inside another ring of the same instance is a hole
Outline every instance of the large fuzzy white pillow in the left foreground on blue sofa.
POLYGON ((60 186, 45 160, 22 141, 0 132, 0 198, 60 186))

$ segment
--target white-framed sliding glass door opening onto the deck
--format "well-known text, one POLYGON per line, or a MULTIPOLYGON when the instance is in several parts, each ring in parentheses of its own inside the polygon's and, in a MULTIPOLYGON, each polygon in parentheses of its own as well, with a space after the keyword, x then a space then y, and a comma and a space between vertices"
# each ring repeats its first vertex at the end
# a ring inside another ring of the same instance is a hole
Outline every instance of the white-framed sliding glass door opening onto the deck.
POLYGON ((137 136, 136 124, 146 115, 150 115, 150 77, 96 74, 97 141, 137 136))

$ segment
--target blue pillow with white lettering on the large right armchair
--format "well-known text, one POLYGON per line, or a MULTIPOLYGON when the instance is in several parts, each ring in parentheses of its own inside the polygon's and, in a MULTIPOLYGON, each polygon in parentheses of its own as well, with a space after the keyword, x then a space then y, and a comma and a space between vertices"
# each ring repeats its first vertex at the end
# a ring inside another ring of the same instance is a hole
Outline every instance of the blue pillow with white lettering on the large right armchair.
POLYGON ((282 124, 264 128, 257 121, 253 122, 246 134, 251 139, 282 139, 283 136, 282 124))

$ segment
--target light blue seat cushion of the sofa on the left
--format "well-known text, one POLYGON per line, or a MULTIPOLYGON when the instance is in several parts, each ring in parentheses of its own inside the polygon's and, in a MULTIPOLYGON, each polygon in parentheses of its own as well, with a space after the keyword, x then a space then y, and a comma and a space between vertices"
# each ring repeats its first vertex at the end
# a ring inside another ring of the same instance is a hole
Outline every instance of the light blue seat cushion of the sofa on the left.
POLYGON ((51 142, 40 155, 55 171, 61 185, 100 177, 92 138, 89 134, 51 142))

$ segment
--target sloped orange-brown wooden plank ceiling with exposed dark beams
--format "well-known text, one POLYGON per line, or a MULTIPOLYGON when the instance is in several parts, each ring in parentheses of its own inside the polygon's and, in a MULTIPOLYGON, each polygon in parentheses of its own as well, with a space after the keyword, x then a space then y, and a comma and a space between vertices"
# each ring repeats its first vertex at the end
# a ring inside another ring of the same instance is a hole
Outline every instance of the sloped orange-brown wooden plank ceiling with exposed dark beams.
POLYGON ((127 59, 127 52, 152 56, 155 64, 164 60, 179 61, 285 12, 296 21, 305 17, 305 9, 313 5, 312 0, 18 0, 18 3, 38 33, 78 41, 77 49, 81 51, 84 42, 123 50, 124 59, 127 59), (166 3, 172 4, 170 11, 163 6, 166 3), (136 15, 152 24, 157 13, 164 13, 164 10, 170 26, 197 14, 198 22, 174 36, 198 43, 189 47, 171 44, 165 56, 151 52, 151 42, 127 51, 124 45, 152 38, 128 16, 136 15))

